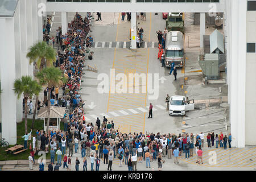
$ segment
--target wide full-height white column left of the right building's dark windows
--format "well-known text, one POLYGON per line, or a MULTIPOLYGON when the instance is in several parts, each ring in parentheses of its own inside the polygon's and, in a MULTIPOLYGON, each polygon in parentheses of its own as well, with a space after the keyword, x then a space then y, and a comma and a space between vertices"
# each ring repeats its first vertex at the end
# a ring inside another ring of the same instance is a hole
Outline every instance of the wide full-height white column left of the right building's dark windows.
POLYGON ((232 0, 232 39, 230 68, 230 121, 232 144, 245 147, 245 88, 246 88, 246 8, 247 1, 232 0), (244 66, 241 66, 244 65, 244 66))

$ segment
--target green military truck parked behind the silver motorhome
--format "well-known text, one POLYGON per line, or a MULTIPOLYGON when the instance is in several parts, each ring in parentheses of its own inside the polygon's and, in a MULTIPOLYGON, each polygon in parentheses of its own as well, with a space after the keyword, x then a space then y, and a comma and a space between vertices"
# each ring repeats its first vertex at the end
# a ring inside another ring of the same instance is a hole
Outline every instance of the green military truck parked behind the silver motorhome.
POLYGON ((180 31, 184 34, 183 13, 169 13, 166 20, 166 28, 168 31, 180 31))

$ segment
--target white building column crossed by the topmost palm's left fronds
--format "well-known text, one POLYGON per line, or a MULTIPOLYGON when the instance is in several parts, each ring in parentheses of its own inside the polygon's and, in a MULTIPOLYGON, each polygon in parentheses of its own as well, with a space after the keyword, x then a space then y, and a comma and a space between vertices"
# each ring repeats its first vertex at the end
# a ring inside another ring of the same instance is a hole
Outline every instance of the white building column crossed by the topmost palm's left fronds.
MULTIPOLYGON (((32 3, 31 0, 26 0, 26 20, 27 20, 27 49, 33 44, 33 27, 32 27, 32 3)), ((34 64, 30 64, 28 61, 28 75, 33 77, 34 64)))

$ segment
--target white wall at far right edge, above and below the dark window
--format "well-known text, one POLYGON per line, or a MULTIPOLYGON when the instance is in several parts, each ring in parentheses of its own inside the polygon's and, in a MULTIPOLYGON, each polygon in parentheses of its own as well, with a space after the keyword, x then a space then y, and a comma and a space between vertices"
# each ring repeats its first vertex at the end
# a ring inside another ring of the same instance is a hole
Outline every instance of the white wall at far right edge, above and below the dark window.
MULTIPOLYGON (((256 43, 256 11, 247 11, 246 42, 256 43)), ((245 144, 256 144, 256 53, 246 53, 245 144)))

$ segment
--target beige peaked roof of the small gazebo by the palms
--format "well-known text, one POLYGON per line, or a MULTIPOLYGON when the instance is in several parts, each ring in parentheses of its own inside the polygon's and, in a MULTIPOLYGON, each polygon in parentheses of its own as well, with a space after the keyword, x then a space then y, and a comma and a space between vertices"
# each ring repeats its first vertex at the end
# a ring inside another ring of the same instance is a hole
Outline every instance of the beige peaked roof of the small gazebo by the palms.
MULTIPOLYGON (((65 107, 50 107, 50 118, 63 118, 65 114, 65 107)), ((38 118, 48 118, 48 107, 41 107, 38 113, 38 118)))

